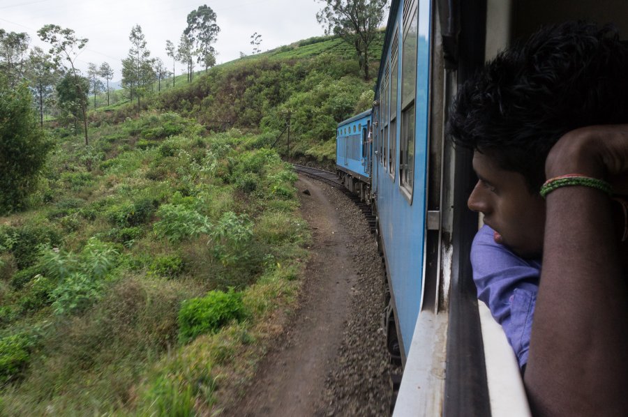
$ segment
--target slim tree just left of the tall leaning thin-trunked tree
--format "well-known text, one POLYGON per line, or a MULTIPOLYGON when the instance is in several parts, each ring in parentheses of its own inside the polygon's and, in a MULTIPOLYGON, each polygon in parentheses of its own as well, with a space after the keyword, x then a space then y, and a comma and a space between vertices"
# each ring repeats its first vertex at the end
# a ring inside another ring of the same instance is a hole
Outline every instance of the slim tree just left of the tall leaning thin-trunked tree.
POLYGON ((36 46, 29 54, 27 78, 35 90, 36 104, 39 108, 40 126, 43 127, 43 114, 46 103, 50 104, 54 95, 54 84, 59 79, 59 68, 52 61, 52 56, 36 46))

